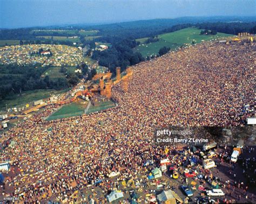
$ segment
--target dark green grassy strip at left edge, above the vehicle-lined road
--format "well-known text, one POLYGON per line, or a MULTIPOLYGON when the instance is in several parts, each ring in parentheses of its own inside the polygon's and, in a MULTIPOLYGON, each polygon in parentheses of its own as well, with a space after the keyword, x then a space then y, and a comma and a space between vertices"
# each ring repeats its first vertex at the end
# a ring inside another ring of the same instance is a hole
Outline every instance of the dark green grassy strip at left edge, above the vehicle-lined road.
POLYGON ((22 92, 22 95, 15 94, 13 96, 8 96, 6 99, 0 101, 0 110, 6 110, 6 104, 8 108, 21 107, 32 101, 37 101, 40 99, 46 99, 50 95, 56 95, 68 91, 65 90, 54 90, 54 89, 41 89, 41 90, 29 90, 22 92))

